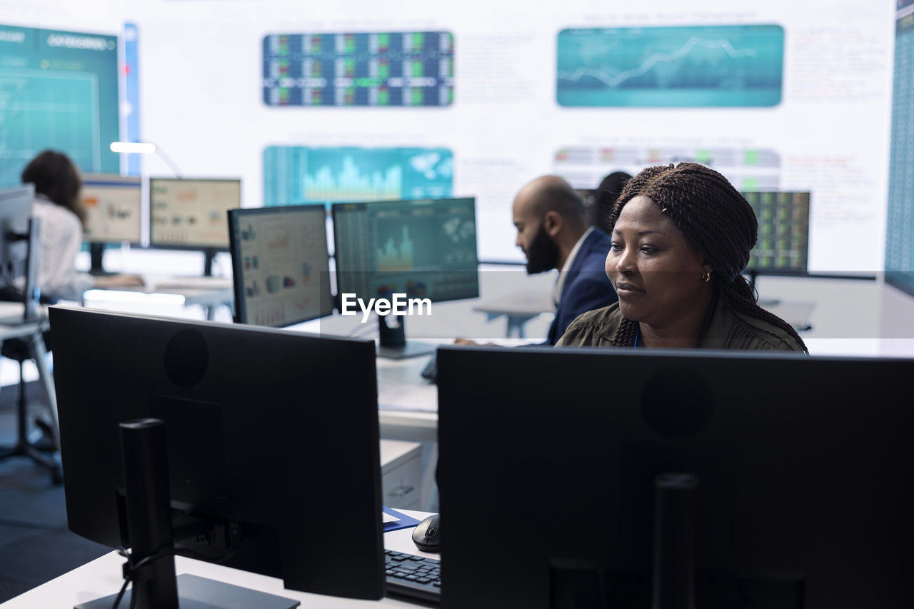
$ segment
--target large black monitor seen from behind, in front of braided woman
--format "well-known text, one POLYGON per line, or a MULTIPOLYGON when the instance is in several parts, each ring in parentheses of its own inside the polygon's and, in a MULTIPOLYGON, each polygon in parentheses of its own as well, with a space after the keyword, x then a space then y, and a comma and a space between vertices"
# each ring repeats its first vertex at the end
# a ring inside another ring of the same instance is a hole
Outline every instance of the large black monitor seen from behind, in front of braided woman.
POLYGON ((441 347, 442 606, 646 609, 660 561, 696 601, 654 607, 910 607, 912 377, 912 359, 441 347))

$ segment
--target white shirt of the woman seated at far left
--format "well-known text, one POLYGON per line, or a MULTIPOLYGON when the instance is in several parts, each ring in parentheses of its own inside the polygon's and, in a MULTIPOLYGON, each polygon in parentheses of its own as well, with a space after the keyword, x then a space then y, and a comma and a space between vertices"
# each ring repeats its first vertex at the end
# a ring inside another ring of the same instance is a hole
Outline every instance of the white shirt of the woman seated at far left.
POLYGON ((72 211, 37 195, 32 215, 40 220, 38 288, 41 294, 80 300, 95 285, 88 272, 76 271, 76 254, 82 245, 82 223, 72 211))

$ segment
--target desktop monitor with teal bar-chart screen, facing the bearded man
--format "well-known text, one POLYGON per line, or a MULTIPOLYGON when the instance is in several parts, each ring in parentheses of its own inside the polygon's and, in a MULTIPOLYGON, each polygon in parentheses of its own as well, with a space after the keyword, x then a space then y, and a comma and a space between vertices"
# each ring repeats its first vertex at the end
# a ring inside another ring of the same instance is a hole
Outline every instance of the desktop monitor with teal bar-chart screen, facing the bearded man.
MULTIPOLYGON (((336 298, 368 302, 406 294, 429 302, 477 298, 474 198, 335 203, 336 298)), ((378 315, 378 355, 409 358, 433 347, 407 343, 400 315, 378 315), (391 325, 393 322, 393 325, 391 325)))

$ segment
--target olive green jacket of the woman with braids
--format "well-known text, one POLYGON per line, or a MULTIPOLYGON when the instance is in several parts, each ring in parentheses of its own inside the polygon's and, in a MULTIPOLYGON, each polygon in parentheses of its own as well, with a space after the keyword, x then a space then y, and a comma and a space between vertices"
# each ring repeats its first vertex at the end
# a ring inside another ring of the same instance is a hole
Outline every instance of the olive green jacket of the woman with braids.
MULTIPOLYGON (((619 303, 588 311, 578 315, 558 339, 556 347, 610 347, 619 324, 622 312, 619 303)), ((698 347, 709 349, 744 349, 802 351, 796 338, 778 326, 731 311, 723 301, 717 302, 717 308, 705 337, 698 347)))

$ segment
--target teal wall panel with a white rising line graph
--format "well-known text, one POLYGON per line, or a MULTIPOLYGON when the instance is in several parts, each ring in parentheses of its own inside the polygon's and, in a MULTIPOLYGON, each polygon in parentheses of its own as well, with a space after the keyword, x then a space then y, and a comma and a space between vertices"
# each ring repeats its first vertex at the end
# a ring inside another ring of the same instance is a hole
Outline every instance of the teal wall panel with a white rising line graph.
POLYGON ((558 33, 562 106, 773 106, 780 26, 617 27, 558 33))

